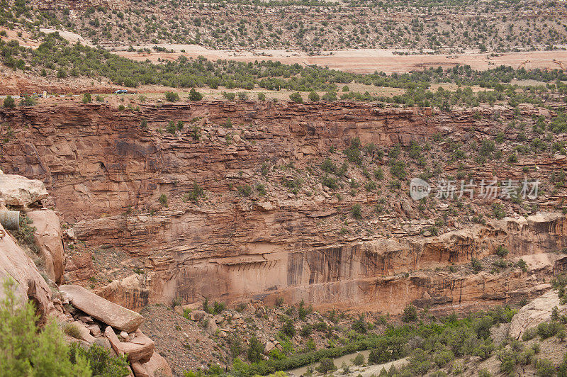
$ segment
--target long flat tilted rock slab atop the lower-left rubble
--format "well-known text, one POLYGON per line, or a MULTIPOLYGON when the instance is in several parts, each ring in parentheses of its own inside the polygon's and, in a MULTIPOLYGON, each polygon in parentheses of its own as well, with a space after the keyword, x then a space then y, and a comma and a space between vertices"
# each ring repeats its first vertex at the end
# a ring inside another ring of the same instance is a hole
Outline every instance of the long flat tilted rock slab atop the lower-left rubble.
POLYGON ((140 314, 96 296, 81 286, 64 285, 60 286, 60 291, 67 293, 76 308, 118 330, 134 332, 144 322, 140 314))

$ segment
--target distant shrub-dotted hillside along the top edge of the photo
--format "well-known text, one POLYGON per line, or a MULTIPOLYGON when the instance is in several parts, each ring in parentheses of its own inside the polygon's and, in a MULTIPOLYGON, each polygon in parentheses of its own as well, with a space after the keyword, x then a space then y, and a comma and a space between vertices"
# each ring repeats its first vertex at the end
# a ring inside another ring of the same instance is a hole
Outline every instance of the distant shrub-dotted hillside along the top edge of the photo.
POLYGON ((347 48, 394 48, 402 54, 544 50, 567 40, 556 1, 157 0, 125 9, 86 5, 73 12, 78 17, 64 3, 42 8, 3 0, 0 26, 21 24, 30 33, 41 26, 65 28, 106 46, 180 43, 312 54, 347 48))

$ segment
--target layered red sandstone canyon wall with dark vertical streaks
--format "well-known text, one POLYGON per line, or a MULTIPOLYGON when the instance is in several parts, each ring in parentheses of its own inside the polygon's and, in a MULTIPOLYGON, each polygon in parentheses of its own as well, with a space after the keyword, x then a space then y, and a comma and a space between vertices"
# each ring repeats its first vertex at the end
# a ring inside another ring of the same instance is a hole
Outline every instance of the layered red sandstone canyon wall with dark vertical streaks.
MULTIPOLYGON (((309 171, 354 137, 390 146, 471 125, 492 133, 473 111, 226 101, 118 111, 60 103, 2 108, 0 122, 13 132, 0 145, 0 167, 45 182, 53 198, 46 204, 71 225, 69 239, 102 253, 123 249, 143 265, 144 273, 131 271, 98 288, 135 310, 177 299, 274 303, 282 297, 393 313, 408 303, 453 310, 533 296, 563 266, 563 254, 549 253, 567 240, 561 214, 491 220, 426 237, 422 230, 431 222, 413 220, 404 209, 374 220, 384 232, 339 237, 329 224, 342 221, 345 204, 318 180, 308 193, 279 188, 294 169, 309 171), (170 120, 184 127, 169 134, 170 120), (271 194, 238 196, 238 187, 253 186, 264 164, 281 167, 266 181, 271 194), (183 200, 194 184, 205 189, 198 203, 183 200), (162 195, 167 206, 158 204, 162 195), (472 258, 501 244, 510 248, 510 260, 528 262, 528 272, 468 269, 472 258), (451 264, 456 271, 447 270, 451 264)), ((364 193, 357 201, 376 198, 364 193)), ((97 272, 89 261, 69 265, 75 281, 86 283, 97 272)))

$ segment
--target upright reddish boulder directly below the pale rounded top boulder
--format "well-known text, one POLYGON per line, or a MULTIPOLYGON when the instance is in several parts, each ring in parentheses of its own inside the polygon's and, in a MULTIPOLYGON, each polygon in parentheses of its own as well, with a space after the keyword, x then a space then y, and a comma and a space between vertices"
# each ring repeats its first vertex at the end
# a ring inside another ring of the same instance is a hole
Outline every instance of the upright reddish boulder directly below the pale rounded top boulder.
POLYGON ((65 253, 59 218, 52 210, 33 210, 27 213, 35 227, 35 244, 45 260, 45 272, 55 283, 63 281, 65 253))

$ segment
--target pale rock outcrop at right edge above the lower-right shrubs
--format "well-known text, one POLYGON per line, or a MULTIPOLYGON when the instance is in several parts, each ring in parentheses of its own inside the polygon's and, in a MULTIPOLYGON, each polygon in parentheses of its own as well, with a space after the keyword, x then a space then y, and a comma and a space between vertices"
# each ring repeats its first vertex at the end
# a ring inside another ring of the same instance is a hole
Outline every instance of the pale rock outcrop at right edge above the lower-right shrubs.
POLYGON ((526 330, 539 325, 541 322, 551 320, 551 311, 554 307, 558 308, 559 315, 563 315, 567 311, 567 305, 559 304, 559 298, 555 291, 544 293, 531 303, 524 305, 512 317, 508 336, 513 339, 520 339, 526 330))

